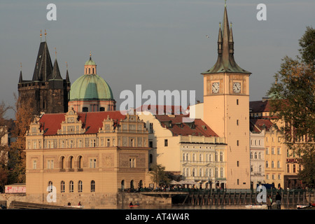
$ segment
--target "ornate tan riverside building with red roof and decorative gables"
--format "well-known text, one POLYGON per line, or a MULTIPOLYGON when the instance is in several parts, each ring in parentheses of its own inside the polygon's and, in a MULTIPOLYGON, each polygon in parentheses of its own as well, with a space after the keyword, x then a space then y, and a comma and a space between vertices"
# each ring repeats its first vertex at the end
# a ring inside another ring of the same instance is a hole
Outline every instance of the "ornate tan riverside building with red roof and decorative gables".
POLYGON ((136 115, 73 110, 43 114, 31 123, 26 144, 27 195, 35 201, 45 201, 48 190, 61 202, 151 182, 148 131, 136 115))

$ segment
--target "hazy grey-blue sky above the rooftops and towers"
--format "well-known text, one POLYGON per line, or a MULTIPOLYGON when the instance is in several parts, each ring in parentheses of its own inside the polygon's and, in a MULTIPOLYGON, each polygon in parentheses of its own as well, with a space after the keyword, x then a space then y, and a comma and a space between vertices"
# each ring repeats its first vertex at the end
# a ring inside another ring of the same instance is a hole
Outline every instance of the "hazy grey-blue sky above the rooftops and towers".
MULTIPOLYGON (((281 59, 298 55, 298 40, 315 27, 314 0, 228 0, 235 61, 250 71, 250 101, 261 100, 274 82, 281 59), (267 20, 257 20, 264 3, 267 20)), ((203 102, 202 72, 217 59, 224 0, 1 0, 0 102, 14 106, 20 63, 31 80, 40 32, 62 77, 68 64, 71 83, 83 75, 90 57, 97 74, 111 86, 117 108, 120 93, 195 90, 203 102), (47 20, 54 3, 57 20, 47 20), (209 38, 207 38, 207 35, 209 38)), ((8 112, 12 118, 13 111, 8 112)))

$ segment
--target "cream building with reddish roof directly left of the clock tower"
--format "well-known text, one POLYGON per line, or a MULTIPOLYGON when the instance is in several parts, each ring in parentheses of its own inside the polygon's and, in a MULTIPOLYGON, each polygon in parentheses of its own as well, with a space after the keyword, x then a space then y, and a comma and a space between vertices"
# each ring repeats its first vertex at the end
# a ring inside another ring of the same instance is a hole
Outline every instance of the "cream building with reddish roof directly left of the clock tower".
POLYGON ((151 165, 161 164, 165 171, 195 181, 197 188, 225 188, 224 138, 198 118, 186 123, 183 115, 138 114, 150 132, 151 165))

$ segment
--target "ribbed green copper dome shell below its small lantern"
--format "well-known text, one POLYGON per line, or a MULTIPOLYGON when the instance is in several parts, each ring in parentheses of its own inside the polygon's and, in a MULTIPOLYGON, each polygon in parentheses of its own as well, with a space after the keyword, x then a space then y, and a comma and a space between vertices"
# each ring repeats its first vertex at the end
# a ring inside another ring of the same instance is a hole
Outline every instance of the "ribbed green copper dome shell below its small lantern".
POLYGON ((96 74, 80 76, 70 90, 70 101, 76 100, 109 100, 113 99, 113 92, 106 81, 96 74))

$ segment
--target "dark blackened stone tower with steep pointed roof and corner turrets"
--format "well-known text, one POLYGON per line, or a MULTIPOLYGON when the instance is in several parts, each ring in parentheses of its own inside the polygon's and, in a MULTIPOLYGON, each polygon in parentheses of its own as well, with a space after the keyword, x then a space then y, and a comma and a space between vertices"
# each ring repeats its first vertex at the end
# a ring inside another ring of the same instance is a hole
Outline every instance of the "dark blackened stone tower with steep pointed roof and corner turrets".
POLYGON ((39 45, 33 78, 23 80, 22 71, 18 83, 19 97, 23 101, 34 99, 31 105, 35 115, 44 113, 65 113, 68 111, 69 91, 71 83, 68 69, 66 79, 60 75, 57 56, 52 66, 46 41, 39 45))

